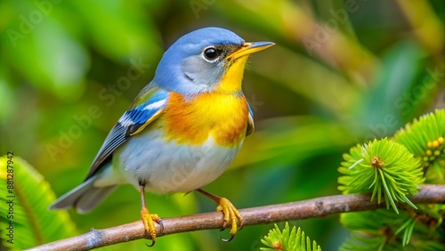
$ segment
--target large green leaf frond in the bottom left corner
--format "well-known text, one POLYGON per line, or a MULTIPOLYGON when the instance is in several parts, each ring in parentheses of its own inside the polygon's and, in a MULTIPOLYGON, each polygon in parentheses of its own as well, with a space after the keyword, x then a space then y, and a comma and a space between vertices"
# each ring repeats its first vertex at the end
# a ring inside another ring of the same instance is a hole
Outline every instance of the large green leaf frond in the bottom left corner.
POLYGON ((0 170, 3 184, 13 178, 13 188, 0 186, 0 203, 8 205, 0 207, 0 228, 4 231, 13 224, 13 243, 7 242, 4 234, 2 236, 5 247, 23 250, 77 233, 67 212, 48 211, 56 197, 49 183, 28 162, 12 155, 4 156, 0 158, 0 170), (7 170, 13 170, 13 173, 7 170))

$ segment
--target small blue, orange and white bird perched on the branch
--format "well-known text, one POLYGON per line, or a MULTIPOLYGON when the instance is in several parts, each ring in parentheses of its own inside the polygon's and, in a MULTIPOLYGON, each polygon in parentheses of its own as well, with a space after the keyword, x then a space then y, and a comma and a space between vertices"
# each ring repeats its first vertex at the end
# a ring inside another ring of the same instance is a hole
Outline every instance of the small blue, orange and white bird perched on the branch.
MULTIPOLYGON (((250 54, 275 45, 246 42, 229 29, 199 28, 181 36, 163 54, 152 81, 110 130, 84 182, 58 198, 50 209, 73 207, 83 214, 118 185, 141 193, 145 237, 156 241, 162 219, 150 214, 145 191, 159 194, 198 191, 223 212, 230 241, 243 217, 228 198, 202 187, 219 177, 235 158, 254 115, 242 91, 250 54)), ((238 228, 239 225, 239 228, 238 228)))

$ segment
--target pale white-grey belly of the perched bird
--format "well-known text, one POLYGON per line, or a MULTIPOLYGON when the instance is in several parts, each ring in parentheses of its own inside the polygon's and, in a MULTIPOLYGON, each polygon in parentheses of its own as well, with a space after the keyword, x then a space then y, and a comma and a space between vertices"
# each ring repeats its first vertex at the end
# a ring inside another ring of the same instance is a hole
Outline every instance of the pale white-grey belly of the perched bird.
POLYGON ((212 137, 199 146, 166 142, 161 130, 132 137, 113 155, 113 172, 120 180, 157 193, 196 190, 223 174, 238 154, 236 148, 217 145, 212 137), (115 173, 115 174, 116 174, 115 173))

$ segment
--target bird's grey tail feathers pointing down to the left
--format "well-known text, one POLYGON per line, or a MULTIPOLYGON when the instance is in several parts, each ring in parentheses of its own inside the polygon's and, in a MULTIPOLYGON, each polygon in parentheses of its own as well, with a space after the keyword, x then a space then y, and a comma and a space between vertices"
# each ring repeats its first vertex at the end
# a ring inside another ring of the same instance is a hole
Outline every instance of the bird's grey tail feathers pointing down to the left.
POLYGON ((95 180, 96 179, 94 177, 91 177, 78 185, 75 189, 70 190, 61 198, 54 201, 50 206, 50 209, 74 207, 79 214, 85 214, 91 211, 117 188, 117 185, 108 187, 94 187, 93 183, 95 180))

